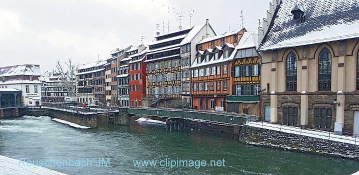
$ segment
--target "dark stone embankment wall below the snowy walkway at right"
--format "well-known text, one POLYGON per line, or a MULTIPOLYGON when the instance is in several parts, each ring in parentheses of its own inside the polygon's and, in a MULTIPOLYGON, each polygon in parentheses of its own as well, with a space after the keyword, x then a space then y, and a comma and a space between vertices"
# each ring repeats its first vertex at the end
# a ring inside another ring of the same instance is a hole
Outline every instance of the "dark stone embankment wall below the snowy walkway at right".
POLYGON ((359 145, 243 125, 239 139, 251 145, 359 160, 359 145))

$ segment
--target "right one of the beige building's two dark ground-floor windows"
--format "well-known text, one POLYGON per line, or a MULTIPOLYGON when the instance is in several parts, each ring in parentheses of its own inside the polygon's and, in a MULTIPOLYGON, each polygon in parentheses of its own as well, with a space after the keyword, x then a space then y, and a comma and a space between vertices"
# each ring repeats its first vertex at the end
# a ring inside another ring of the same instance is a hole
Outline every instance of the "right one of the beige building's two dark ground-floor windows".
POLYGON ((314 108, 314 125, 318 128, 331 128, 331 108, 318 107, 314 108))

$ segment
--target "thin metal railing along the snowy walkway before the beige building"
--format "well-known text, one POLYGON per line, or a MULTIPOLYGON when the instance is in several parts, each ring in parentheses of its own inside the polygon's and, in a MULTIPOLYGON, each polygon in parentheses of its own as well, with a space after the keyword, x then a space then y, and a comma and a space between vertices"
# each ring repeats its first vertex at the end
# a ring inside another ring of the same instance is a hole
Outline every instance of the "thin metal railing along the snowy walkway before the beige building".
MULTIPOLYGON (((248 120, 247 121, 251 121, 248 120)), ((256 121, 256 122, 251 122, 251 124, 255 124, 260 128, 263 128, 263 126, 266 127, 272 127, 272 128, 277 128, 279 129, 279 131, 282 130, 288 130, 288 131, 293 131, 293 132, 298 132, 299 135, 302 135, 302 133, 306 134, 305 136, 309 136, 309 135, 315 135, 315 136, 320 136, 320 137, 324 137, 327 140, 334 140, 333 138, 337 139, 342 139, 342 140, 349 140, 354 142, 354 144, 356 144, 356 140, 359 137, 359 134, 355 134, 355 133, 350 133, 350 132, 342 132, 343 135, 338 135, 338 134, 334 134, 334 130, 329 129, 329 130, 319 130, 319 129, 315 129, 315 128, 308 128, 308 129, 303 129, 301 127, 298 126, 291 126, 291 125, 286 125, 286 124, 282 124, 282 123, 277 123, 277 121, 272 121, 272 120, 267 120, 267 121, 256 121), (269 123, 269 125, 266 125, 265 123, 269 123)), ((269 129, 269 128, 268 128, 269 129)), ((274 130, 274 129, 270 129, 270 130, 274 130)), ((292 133, 292 132, 290 132, 292 133)), ((296 133, 294 133, 296 134, 296 133)), ((314 137, 315 137, 314 136, 314 137)), ((320 137, 316 137, 316 138, 320 138, 320 137)), ((324 139, 322 138, 322 139, 324 139)), ((359 141, 359 138, 358 138, 359 141)), ((341 141, 343 142, 343 141, 341 141)))

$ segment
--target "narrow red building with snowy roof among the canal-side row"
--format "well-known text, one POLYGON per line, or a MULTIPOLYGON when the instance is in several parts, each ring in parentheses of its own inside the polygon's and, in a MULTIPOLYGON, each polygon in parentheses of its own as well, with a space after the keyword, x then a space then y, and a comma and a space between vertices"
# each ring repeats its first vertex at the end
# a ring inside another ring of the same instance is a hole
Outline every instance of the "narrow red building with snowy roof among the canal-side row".
POLYGON ((131 55, 131 61, 128 62, 129 77, 129 105, 143 106, 142 94, 146 92, 146 53, 148 47, 137 54, 131 55))

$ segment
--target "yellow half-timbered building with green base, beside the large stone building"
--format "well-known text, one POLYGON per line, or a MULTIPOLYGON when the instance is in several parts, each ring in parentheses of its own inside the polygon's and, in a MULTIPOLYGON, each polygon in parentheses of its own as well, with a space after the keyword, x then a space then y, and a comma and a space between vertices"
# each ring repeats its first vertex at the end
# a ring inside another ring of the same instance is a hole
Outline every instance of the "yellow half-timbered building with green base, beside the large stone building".
POLYGON ((230 68, 232 90, 226 96, 228 112, 260 115, 260 58, 257 46, 258 34, 246 31, 235 47, 230 68))

